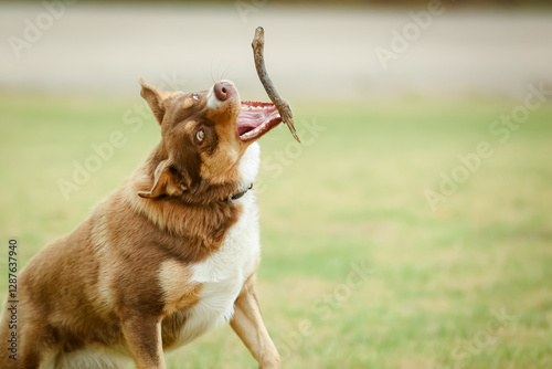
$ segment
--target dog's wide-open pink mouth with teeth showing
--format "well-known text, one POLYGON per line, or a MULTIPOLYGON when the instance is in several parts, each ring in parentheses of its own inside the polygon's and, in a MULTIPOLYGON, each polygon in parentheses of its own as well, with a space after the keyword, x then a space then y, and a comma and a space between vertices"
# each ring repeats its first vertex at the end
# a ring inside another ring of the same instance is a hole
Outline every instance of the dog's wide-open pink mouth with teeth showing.
POLYGON ((282 123, 278 109, 272 103, 242 102, 237 116, 237 135, 242 141, 257 139, 282 123))

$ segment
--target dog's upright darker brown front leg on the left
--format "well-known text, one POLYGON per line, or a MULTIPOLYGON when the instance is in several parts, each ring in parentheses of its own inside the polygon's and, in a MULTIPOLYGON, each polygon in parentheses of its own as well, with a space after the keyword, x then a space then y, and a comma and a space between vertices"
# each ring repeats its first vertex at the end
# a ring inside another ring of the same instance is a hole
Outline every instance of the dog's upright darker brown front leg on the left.
POLYGON ((167 369, 160 319, 131 315, 121 319, 121 326, 137 369, 167 369))

